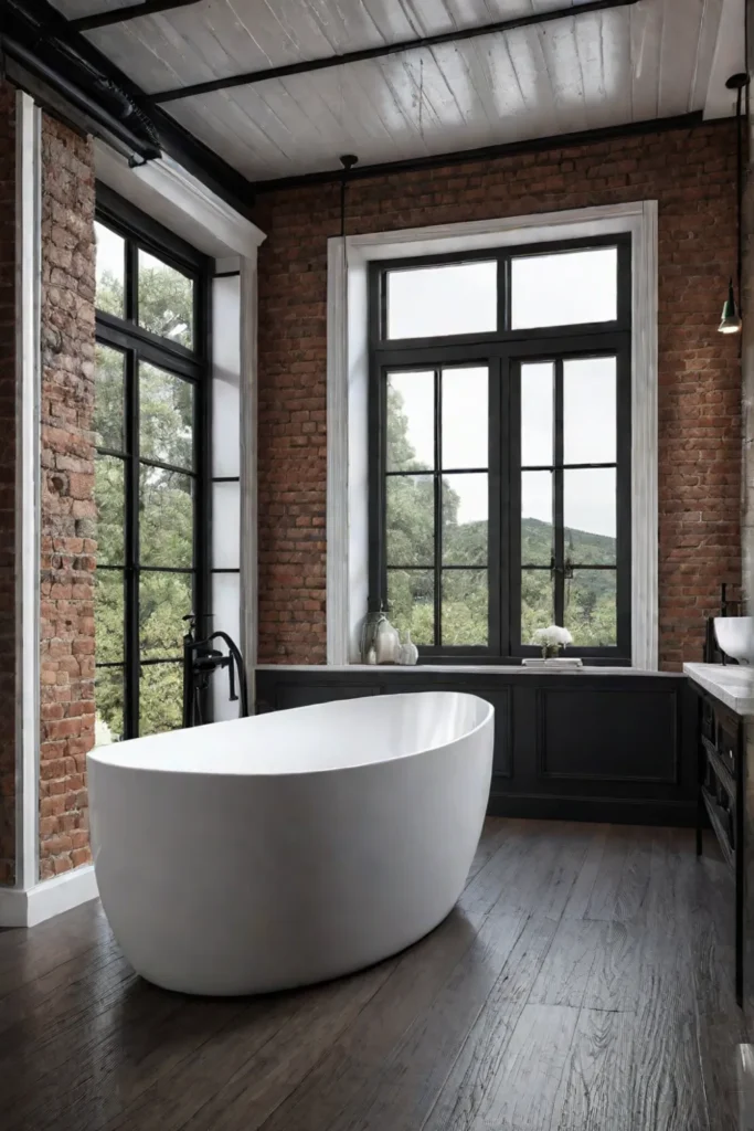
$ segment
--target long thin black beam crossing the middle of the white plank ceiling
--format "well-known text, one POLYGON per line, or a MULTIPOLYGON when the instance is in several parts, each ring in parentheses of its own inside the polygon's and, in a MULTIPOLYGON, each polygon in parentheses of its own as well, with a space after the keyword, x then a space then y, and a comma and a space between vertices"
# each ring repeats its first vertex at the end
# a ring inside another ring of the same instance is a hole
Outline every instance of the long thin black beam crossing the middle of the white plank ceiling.
POLYGON ((283 67, 269 67, 267 70, 246 71, 244 75, 231 75, 227 78, 216 78, 208 83, 194 83, 192 86, 176 87, 173 90, 161 90, 148 96, 153 105, 164 102, 176 102, 179 98, 190 98, 198 94, 213 94, 215 90, 228 90, 235 86, 253 86, 272 78, 287 78, 291 75, 306 75, 310 71, 328 70, 331 67, 344 67, 347 63, 361 63, 369 59, 384 59, 387 55, 402 54, 405 51, 417 51, 422 48, 436 48, 445 43, 461 43, 463 40, 476 40, 483 35, 495 35, 499 32, 512 32, 520 27, 535 27, 549 24, 556 19, 571 16, 586 16, 589 12, 607 11, 610 8, 629 8, 639 0, 589 0, 574 8, 558 8, 556 11, 538 11, 529 16, 518 16, 514 19, 499 19, 493 24, 482 24, 476 27, 453 28, 452 32, 439 32, 436 35, 425 35, 419 40, 404 40, 400 43, 383 43, 379 48, 365 48, 362 51, 346 51, 338 55, 323 59, 302 60, 297 63, 286 63, 283 67))

